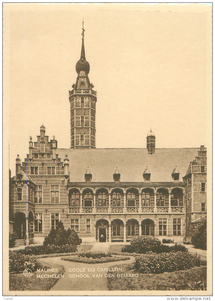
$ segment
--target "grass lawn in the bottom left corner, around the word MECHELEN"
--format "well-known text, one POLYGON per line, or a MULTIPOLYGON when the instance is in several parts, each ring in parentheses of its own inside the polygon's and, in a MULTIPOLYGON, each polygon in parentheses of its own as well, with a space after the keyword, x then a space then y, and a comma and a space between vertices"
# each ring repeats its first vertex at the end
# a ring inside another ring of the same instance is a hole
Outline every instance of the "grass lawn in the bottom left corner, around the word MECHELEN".
MULTIPOLYGON (((62 265, 49 265, 48 268, 58 268, 58 272, 44 274, 63 274, 64 268, 62 265)), ((41 274, 41 273, 39 273, 41 274)), ((60 278, 37 278, 37 272, 33 272, 32 276, 25 278, 23 273, 9 275, 9 290, 50 290, 51 287, 60 278)))

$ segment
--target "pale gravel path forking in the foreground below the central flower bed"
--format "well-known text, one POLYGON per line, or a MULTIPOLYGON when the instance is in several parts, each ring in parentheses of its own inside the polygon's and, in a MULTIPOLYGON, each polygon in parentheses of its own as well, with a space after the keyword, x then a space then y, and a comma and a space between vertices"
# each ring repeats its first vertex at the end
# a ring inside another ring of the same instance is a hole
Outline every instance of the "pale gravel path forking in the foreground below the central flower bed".
MULTIPOLYGON (((51 264, 54 265, 63 265, 65 272, 64 278, 60 278, 57 283, 51 288, 51 290, 71 290, 71 291, 81 291, 81 290, 108 290, 107 288, 107 278, 105 274, 110 274, 111 272, 100 272, 97 271, 98 268, 110 268, 110 267, 119 267, 121 264, 130 264, 134 262, 134 257, 130 256, 130 260, 121 260, 117 262, 106 262, 106 263, 97 263, 97 264, 86 264, 79 262, 70 262, 61 260, 61 257, 52 257, 52 258, 40 258, 41 263, 48 267, 51 264), (69 269, 77 268, 78 272, 69 272, 69 269), (85 271, 83 269, 85 268, 85 271), (88 269, 94 268, 95 272, 89 271, 88 269), (82 270, 80 270, 82 269, 82 270), (83 271, 83 272, 81 272, 83 271), (93 277, 93 275, 102 275, 102 277, 93 277), (69 275, 88 275, 88 278, 69 278, 69 275)), ((123 271, 119 272, 123 273, 123 271)), ((116 274, 116 273, 115 273, 116 274)), ((115 275, 116 277, 116 275, 115 275)))

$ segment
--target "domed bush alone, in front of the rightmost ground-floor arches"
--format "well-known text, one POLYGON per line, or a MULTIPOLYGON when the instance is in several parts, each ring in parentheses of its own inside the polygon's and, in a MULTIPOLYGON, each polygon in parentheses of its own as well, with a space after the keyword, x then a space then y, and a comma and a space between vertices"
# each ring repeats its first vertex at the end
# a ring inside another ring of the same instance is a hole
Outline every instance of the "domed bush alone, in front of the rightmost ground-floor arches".
POLYGON ((149 251, 158 252, 161 242, 154 236, 143 235, 132 237, 130 244, 135 253, 145 254, 149 251))

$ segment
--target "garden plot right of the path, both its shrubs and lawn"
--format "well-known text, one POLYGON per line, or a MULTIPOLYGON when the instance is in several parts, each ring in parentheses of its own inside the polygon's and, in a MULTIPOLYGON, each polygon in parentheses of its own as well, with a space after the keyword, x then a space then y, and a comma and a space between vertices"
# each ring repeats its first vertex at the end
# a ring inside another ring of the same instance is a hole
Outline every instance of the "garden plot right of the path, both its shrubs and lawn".
POLYGON ((134 256, 134 264, 121 267, 139 277, 108 278, 109 290, 206 290, 206 262, 183 245, 168 246, 152 236, 137 236, 130 245, 113 245, 110 251, 134 256))

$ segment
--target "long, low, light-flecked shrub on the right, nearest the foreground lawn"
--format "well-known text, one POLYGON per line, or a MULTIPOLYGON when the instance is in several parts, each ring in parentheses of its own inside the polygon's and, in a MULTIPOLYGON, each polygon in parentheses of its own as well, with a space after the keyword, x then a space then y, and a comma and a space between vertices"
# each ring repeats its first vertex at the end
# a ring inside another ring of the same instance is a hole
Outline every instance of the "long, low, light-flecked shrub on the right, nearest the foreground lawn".
POLYGON ((187 252, 146 254, 135 257, 134 268, 143 274, 159 274, 200 266, 200 256, 187 252))

